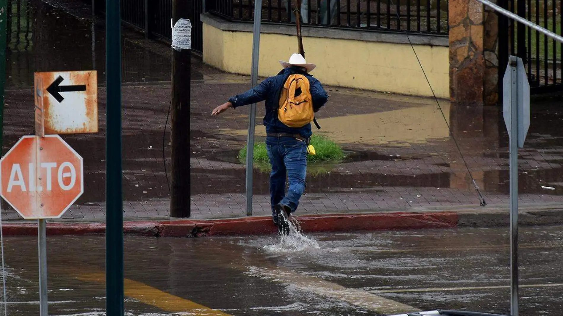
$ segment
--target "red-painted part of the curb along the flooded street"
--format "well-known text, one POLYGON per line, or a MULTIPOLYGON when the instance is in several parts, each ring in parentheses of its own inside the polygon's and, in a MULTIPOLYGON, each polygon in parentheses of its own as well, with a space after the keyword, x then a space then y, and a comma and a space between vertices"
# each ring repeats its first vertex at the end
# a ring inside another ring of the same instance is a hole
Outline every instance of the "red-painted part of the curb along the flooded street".
MULTIPOLYGON (((303 232, 354 232, 386 229, 454 228, 459 216, 440 213, 371 213, 295 216, 303 232)), ((270 216, 218 220, 169 220, 124 222, 123 233, 149 237, 202 237, 273 234, 277 228, 270 216)), ((47 234, 104 234, 105 223, 48 223, 47 234)), ((37 234, 36 223, 3 224, 5 236, 37 234)))

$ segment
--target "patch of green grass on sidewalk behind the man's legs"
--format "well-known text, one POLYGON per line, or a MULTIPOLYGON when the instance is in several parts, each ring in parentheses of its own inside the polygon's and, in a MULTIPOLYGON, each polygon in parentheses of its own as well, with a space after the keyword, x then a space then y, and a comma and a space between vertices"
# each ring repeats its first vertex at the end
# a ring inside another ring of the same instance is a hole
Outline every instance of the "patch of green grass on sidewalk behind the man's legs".
MULTIPOLYGON (((307 155, 307 161, 310 162, 333 162, 337 163, 344 159, 344 151, 337 143, 331 141, 327 137, 320 135, 313 135, 311 137, 311 143, 315 147, 316 155, 307 155)), ((247 148, 244 146, 239 151, 239 159, 241 162, 246 161, 247 148)), ((260 168, 260 165, 270 164, 270 159, 268 158, 268 152, 266 151, 266 144, 263 142, 254 144, 254 162, 260 168)))

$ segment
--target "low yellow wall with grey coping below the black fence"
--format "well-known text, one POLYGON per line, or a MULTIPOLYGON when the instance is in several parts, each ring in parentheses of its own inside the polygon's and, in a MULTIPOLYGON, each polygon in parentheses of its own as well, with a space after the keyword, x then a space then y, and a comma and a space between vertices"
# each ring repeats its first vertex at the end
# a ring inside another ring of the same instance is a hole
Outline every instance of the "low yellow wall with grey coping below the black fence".
MULTIPOLYGON (((323 84, 357 89, 432 96, 409 44, 303 37, 306 59, 317 65, 312 75, 323 84)), ((449 98, 449 48, 414 46, 430 84, 439 98, 449 98)), ((294 36, 260 35, 258 75, 275 75, 279 60, 297 51, 294 36)), ((222 31, 203 24, 203 61, 218 69, 249 74, 252 33, 222 31)))

